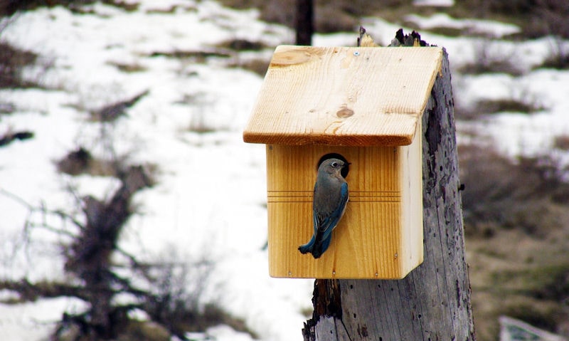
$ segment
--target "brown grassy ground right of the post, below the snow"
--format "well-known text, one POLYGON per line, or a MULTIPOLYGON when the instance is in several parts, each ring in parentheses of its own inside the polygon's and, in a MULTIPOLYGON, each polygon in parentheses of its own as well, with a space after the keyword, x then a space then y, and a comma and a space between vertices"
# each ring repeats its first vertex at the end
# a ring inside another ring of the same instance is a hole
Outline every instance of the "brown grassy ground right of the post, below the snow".
POLYGON ((467 262, 478 340, 509 315, 569 335, 569 184, 551 157, 460 146, 467 262))

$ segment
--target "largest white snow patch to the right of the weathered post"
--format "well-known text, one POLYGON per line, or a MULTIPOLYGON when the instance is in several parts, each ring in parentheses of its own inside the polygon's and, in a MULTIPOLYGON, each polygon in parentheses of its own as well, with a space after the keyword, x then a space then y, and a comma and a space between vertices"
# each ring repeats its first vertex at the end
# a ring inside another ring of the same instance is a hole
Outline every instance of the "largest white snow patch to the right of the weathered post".
POLYGON ((527 75, 481 75, 469 77, 460 94, 473 103, 479 99, 521 100, 536 103, 544 110, 533 114, 504 112, 489 120, 463 123, 474 125, 483 137, 494 140, 499 152, 509 155, 536 155, 548 152, 553 137, 569 133, 569 101, 566 85, 569 73, 536 70, 527 75))

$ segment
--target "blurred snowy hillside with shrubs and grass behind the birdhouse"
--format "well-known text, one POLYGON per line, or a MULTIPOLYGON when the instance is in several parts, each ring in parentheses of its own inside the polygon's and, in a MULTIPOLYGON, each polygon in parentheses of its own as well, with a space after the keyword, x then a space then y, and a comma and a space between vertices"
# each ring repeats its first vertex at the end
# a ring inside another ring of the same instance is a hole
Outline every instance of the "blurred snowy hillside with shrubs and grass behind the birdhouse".
MULTIPOLYGON (((567 1, 313 6, 314 46, 447 49, 477 339, 569 340, 567 1)), ((241 139, 296 9, 0 1, 3 340, 301 339, 313 280, 268 278, 265 149, 241 139)))

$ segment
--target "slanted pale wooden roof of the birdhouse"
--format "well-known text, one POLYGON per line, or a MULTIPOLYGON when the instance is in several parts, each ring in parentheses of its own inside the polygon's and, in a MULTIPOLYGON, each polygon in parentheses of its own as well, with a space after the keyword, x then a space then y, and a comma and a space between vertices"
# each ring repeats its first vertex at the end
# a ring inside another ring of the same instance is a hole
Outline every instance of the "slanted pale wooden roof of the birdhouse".
POLYGON ((243 140, 410 145, 441 63, 438 47, 278 46, 243 140))

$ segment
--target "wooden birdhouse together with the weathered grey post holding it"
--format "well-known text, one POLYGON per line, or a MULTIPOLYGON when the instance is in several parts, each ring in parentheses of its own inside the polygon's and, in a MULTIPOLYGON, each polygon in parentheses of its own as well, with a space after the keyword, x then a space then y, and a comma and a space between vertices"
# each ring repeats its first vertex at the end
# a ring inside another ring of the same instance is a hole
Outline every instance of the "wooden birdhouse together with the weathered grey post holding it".
POLYGON ((267 144, 271 276, 319 278, 304 340, 474 340, 443 48, 277 48, 243 137, 267 144), (356 195, 314 260, 326 154, 356 195))

